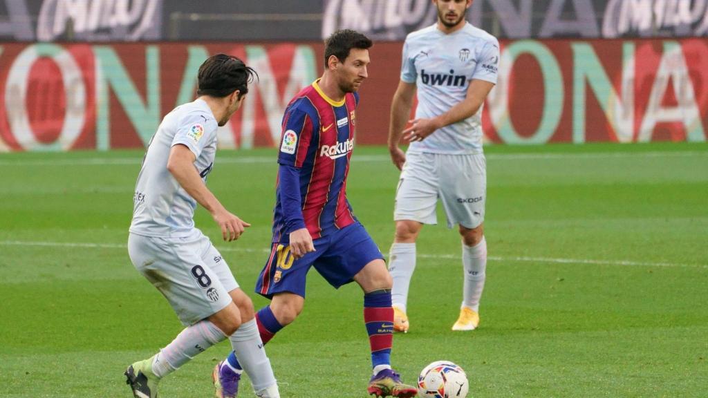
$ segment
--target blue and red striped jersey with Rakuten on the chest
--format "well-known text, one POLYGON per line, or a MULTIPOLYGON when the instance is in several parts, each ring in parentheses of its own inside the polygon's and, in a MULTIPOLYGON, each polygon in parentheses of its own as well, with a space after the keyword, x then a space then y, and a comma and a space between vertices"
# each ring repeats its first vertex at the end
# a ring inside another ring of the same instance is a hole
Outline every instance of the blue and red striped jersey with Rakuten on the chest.
MULTIPOLYGON (((319 80, 318 80, 319 81, 319 80)), ((318 81, 302 89, 288 104, 282 118, 278 163, 299 170, 300 209, 312 239, 353 224, 356 218, 346 197, 349 161, 354 148, 357 93, 347 93, 333 101, 318 81)), ((281 190, 278 181, 273 210, 273 241, 289 241, 281 190)), ((297 196, 295 197, 297 200, 297 196)))

